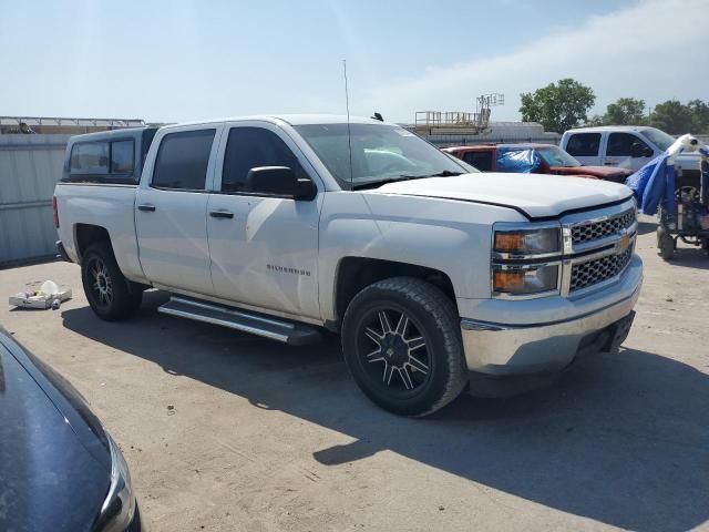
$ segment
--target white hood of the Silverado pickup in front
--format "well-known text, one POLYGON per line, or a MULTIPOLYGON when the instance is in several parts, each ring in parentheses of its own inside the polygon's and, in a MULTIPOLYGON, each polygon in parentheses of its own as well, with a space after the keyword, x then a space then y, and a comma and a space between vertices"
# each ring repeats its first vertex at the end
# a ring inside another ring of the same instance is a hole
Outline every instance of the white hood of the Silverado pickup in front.
POLYGON ((627 200, 633 195, 627 186, 605 181, 503 173, 401 181, 380 186, 372 192, 502 205, 521 211, 531 219, 558 216, 567 211, 593 208, 627 200))

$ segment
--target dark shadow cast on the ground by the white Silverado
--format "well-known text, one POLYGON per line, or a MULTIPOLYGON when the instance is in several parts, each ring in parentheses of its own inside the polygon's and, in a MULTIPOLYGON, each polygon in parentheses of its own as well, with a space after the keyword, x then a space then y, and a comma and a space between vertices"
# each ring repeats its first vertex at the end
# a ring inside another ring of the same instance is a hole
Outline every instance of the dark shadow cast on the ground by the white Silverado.
MULTIPOLYGON (((575 364, 553 387, 506 400, 461 397, 425 419, 389 415, 347 375, 339 347, 288 347, 155 313, 106 324, 89 307, 64 326, 95 341, 348 434, 312 449, 325 466, 391 450, 442 471, 614 526, 685 531, 709 518, 709 380, 626 349, 575 364)), ((699 348, 698 348, 699 349, 699 348)))

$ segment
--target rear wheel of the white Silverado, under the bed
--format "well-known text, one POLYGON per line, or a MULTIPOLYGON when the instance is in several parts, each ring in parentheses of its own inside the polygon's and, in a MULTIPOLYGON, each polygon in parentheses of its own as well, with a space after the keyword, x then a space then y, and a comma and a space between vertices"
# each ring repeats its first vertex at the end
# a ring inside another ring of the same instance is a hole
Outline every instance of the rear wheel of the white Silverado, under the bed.
POLYGON ((89 305, 101 319, 127 319, 141 306, 143 288, 123 276, 107 243, 92 244, 84 252, 81 282, 89 305))

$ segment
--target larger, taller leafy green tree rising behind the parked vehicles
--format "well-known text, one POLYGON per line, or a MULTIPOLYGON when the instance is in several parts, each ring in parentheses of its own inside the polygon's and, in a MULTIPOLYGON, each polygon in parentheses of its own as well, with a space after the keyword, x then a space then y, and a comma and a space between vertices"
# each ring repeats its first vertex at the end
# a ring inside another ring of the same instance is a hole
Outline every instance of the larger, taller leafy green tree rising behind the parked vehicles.
POLYGON ((565 78, 533 93, 520 94, 520 113, 525 122, 540 122, 546 131, 563 133, 588 120, 596 95, 593 89, 565 78))

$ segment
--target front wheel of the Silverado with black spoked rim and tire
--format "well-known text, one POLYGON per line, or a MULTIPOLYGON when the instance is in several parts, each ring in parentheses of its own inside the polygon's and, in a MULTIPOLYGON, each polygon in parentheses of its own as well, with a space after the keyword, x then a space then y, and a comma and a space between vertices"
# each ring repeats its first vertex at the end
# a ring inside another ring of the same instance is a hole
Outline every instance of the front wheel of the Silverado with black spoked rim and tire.
POLYGON ((411 277, 380 280, 352 299, 342 323, 342 351, 364 395, 398 415, 428 416, 467 382, 453 303, 411 277))

